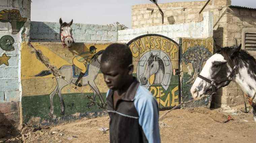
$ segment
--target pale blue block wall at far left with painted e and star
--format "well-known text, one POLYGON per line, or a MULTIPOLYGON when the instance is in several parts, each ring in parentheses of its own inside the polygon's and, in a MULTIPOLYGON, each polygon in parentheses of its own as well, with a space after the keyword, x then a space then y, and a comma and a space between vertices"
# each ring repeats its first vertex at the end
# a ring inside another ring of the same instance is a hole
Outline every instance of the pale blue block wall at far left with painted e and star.
MULTIPOLYGON (((10 22, 0 22, 0 38, 11 36, 14 39, 12 46, 14 50, 6 51, 3 46, 0 48, 0 61, 5 61, 5 55, 9 58, 8 64, 0 62, 0 129, 2 126, 15 126, 20 121, 20 101, 22 95, 21 88, 21 43, 29 39, 30 27, 30 1, 28 0, 1 0, 0 11, 8 10, 5 14, 10 14, 12 10, 19 10, 23 18, 27 18, 24 26, 18 33, 13 33, 12 27, 15 24, 10 22), (10 123, 10 125, 6 125, 10 123)), ((15 15, 13 12, 12 14, 15 15)), ((8 17, 8 16, 7 16, 8 17)), ((9 18, 9 17, 8 17, 9 18)), ((1 20, 1 18, 0 18, 1 20)), ((19 20, 18 20, 19 21, 19 20)), ((3 44, 3 42, 1 42, 3 44)), ((2 136, 0 131, 0 137, 2 136)), ((7 133, 7 131, 6 131, 7 133)))

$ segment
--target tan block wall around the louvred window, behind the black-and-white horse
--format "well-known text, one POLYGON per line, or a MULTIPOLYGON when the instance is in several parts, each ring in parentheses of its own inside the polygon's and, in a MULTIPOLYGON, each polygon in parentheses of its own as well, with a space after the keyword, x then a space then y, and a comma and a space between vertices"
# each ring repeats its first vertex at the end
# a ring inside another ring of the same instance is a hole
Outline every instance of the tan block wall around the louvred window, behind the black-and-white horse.
MULTIPOLYGON (((254 28, 254 31, 256 31, 256 10, 226 7, 222 15, 223 19, 226 21, 226 26, 223 27, 223 33, 214 33, 214 35, 215 37, 218 37, 219 35, 223 37, 223 47, 234 46, 235 39, 237 40, 237 44, 242 44, 243 29, 245 28, 254 28)), ((217 43, 218 41, 219 40, 217 39, 217 43)), ((219 45, 221 45, 221 43, 219 43, 219 45)), ((242 47, 242 49, 244 49, 244 47, 242 47)), ((256 58, 255 50, 248 50, 247 52, 256 58)), ((244 103, 244 93, 234 82, 231 82, 228 86, 222 88, 220 93, 221 94, 215 97, 217 106, 233 106, 244 103)))

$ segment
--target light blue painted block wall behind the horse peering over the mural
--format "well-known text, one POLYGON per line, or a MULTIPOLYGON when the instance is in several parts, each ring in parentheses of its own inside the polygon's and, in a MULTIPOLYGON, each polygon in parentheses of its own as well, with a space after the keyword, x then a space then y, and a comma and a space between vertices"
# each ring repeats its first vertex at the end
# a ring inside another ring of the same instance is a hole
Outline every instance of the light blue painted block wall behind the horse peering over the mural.
MULTIPOLYGON (((117 41, 117 26, 73 23, 75 42, 104 43, 117 41)), ((31 21, 32 42, 61 42, 60 24, 57 22, 31 21)))

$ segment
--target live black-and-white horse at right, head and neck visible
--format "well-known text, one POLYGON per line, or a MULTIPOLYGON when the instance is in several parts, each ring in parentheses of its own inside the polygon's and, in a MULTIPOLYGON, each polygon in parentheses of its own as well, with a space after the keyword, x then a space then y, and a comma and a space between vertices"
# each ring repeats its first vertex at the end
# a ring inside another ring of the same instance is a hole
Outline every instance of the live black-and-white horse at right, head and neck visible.
POLYGON ((218 48, 217 53, 205 63, 202 71, 193 83, 190 92, 193 98, 211 94, 230 81, 237 83, 248 97, 253 107, 256 122, 256 61, 241 45, 235 48, 218 48), (212 90, 212 91, 211 91, 212 90))

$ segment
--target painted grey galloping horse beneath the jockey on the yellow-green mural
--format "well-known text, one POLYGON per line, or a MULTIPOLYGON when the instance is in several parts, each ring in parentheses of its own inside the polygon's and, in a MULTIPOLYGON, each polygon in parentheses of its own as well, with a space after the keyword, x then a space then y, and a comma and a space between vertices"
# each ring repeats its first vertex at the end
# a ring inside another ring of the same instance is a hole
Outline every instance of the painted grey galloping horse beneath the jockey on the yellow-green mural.
MULTIPOLYGON (((96 86, 96 84, 94 82, 94 80, 96 79, 96 77, 99 73, 100 59, 101 59, 102 52, 103 52, 103 50, 100 50, 95 55, 93 55, 93 57, 91 59, 92 62, 89 64, 90 68, 87 69, 88 75, 85 75, 81 79, 81 81, 82 81, 82 86, 89 85, 91 90, 93 91, 93 99, 92 99, 93 102, 96 99, 96 95, 98 95, 99 99, 100 99, 100 105, 102 108, 104 108, 105 102, 102 98, 102 95, 101 95, 98 87, 96 86)), ((49 113, 50 117, 56 117, 53 114, 54 113, 53 97, 55 96, 56 93, 58 94, 60 102, 61 102, 61 114, 62 115, 65 114, 65 104, 64 104, 64 100, 61 95, 61 90, 63 87, 65 87, 71 83, 75 84, 75 81, 77 80, 77 77, 73 76, 74 71, 73 71, 72 65, 63 65, 59 68, 59 71, 61 73, 61 76, 56 77, 57 85, 56 85, 55 89, 50 93, 50 104, 51 104, 51 107, 50 107, 51 109, 50 109, 50 113, 49 113)), ((35 77, 43 77, 43 76, 47 76, 47 75, 51 75, 51 74, 53 74, 51 70, 43 70, 39 74, 35 75, 35 77)))

